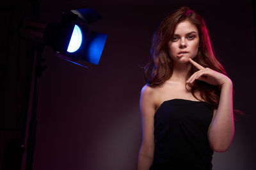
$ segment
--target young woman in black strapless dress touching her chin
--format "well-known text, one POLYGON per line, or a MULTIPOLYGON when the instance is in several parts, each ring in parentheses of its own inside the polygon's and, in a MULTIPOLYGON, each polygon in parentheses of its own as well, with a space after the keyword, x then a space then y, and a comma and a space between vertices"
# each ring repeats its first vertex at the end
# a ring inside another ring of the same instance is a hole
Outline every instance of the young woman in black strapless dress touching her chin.
POLYGON ((164 18, 145 78, 138 170, 212 169, 234 136, 233 91, 200 15, 182 7, 164 18))

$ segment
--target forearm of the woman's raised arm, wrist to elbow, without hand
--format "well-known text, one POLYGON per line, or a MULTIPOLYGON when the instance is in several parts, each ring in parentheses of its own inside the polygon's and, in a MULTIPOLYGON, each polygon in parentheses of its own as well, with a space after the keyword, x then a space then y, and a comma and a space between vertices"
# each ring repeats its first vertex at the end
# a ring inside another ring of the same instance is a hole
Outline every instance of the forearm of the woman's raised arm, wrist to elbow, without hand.
POLYGON ((228 150, 234 137, 233 85, 228 79, 221 85, 220 103, 208 131, 209 145, 215 152, 228 150))

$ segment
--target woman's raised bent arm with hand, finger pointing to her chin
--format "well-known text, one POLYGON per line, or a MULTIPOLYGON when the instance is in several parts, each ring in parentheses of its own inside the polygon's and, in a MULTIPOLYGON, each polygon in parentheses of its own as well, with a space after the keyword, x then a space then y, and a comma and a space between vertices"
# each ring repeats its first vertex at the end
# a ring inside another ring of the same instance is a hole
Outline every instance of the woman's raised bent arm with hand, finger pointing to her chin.
POLYGON ((192 59, 189 59, 199 71, 193 73, 186 81, 193 83, 195 80, 202 80, 211 85, 221 85, 220 103, 214 118, 208 129, 209 145, 215 152, 225 152, 234 136, 234 116, 233 116, 233 85, 230 78, 218 73, 208 67, 203 67, 192 59))

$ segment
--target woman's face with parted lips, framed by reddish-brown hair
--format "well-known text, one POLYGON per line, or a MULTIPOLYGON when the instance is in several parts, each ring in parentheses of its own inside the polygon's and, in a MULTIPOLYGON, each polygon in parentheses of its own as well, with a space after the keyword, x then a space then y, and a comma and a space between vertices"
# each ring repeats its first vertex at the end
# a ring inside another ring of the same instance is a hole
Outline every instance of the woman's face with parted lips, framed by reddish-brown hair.
POLYGON ((188 20, 176 25, 174 34, 168 42, 168 53, 173 62, 189 62, 198 52, 199 35, 195 25, 188 20))

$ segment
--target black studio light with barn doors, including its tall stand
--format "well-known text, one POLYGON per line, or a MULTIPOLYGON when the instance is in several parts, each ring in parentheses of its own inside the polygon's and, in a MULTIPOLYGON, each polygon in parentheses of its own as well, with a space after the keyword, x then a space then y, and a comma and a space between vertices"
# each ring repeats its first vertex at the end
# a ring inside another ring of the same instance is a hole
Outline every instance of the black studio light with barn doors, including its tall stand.
MULTIPOLYGON (((36 10, 31 10, 36 11, 36 10)), ((33 15, 30 15, 33 16, 33 15)), ((44 46, 49 45, 61 59, 68 60, 79 66, 86 67, 83 61, 99 64, 107 35, 90 30, 90 24, 102 17, 92 8, 64 11, 61 23, 44 24, 35 22, 33 17, 24 18, 20 22, 19 33, 29 41, 31 52, 35 53, 33 103, 29 136, 26 146, 26 170, 33 169, 33 154, 36 142, 36 106, 38 101, 39 83, 45 66, 41 66, 44 46)))

